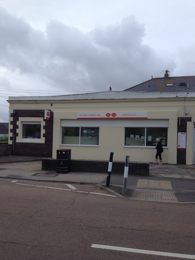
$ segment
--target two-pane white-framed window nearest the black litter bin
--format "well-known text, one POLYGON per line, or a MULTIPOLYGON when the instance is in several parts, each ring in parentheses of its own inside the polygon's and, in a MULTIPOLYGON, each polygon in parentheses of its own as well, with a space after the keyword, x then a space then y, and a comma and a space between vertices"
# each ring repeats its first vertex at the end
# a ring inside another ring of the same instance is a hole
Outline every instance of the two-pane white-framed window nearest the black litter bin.
POLYGON ((99 145, 99 127, 61 127, 63 145, 99 145))

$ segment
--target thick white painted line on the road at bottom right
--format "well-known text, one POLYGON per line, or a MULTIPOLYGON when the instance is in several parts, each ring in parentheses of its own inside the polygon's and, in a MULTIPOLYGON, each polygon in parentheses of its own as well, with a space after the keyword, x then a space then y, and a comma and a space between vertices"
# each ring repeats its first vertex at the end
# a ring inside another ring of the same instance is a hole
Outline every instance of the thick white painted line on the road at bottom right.
POLYGON ((142 250, 142 249, 135 249, 135 248, 127 248, 127 247, 119 247, 119 246, 107 246, 107 245, 97 245, 97 244, 91 244, 91 247, 101 248, 101 249, 118 250, 118 251, 124 251, 124 252, 132 252, 132 253, 140 253, 140 254, 153 254, 153 255, 162 255, 162 256, 186 258, 186 259, 195 259, 195 255, 192 255, 192 254, 177 254, 177 253, 150 251, 150 250, 142 250))

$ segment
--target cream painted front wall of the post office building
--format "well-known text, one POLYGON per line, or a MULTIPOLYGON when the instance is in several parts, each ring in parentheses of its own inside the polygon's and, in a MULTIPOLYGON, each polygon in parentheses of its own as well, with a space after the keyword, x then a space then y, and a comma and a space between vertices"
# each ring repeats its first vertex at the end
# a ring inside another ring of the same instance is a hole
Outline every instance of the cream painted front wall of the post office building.
MULTIPOLYGON (((142 99, 142 100, 87 100, 87 101, 10 101, 10 113, 13 109, 48 109, 54 112, 53 125, 53 158, 56 149, 72 149, 74 159, 108 160, 109 153, 114 152, 115 160, 124 160, 126 155, 133 161, 153 161, 153 148, 123 147, 123 127, 101 127, 100 147, 60 146, 60 119, 76 119, 77 112, 146 112, 148 119, 169 119, 169 147, 162 154, 163 162, 177 163, 177 118, 192 117, 195 121, 195 98, 183 99, 142 99), (53 104, 50 106, 50 104, 53 104), (184 114, 185 106, 189 106, 189 114, 184 114), (117 138, 116 138, 117 137, 117 138), (109 144, 109 145, 108 145, 109 144)), ((12 119, 10 119, 12 120, 12 119)), ((10 126, 11 127, 11 126, 10 126)), ((11 134, 10 134, 11 136, 11 134)), ((187 155, 186 163, 192 164, 191 150, 193 140, 193 123, 187 123, 187 155)), ((12 141, 11 141, 12 142, 12 141)))

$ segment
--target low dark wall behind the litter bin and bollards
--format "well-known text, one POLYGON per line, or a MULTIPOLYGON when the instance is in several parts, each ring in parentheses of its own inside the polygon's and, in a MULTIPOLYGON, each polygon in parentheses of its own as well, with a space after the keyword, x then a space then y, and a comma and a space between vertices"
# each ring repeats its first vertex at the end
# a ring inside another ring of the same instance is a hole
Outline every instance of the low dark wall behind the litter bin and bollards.
MULTIPOLYGON (((56 159, 42 159, 42 170, 56 170, 56 159)), ((107 173, 108 161, 71 160, 72 172, 107 173)), ((114 161, 112 173, 124 174, 124 161, 114 161)), ((129 162, 128 174, 149 175, 149 163, 129 162)))

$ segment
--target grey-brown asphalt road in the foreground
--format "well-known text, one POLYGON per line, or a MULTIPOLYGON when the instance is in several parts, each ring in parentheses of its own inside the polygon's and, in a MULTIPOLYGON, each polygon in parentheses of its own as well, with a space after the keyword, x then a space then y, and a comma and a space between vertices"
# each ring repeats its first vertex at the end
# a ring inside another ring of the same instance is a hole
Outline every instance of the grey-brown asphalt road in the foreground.
POLYGON ((179 259, 151 251, 195 259, 192 204, 109 197, 113 194, 90 185, 73 185, 75 190, 60 183, 11 181, 0 180, 1 260, 179 259), (95 248, 99 245, 138 252, 95 248))

